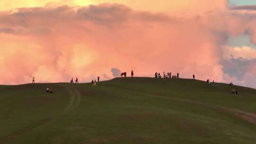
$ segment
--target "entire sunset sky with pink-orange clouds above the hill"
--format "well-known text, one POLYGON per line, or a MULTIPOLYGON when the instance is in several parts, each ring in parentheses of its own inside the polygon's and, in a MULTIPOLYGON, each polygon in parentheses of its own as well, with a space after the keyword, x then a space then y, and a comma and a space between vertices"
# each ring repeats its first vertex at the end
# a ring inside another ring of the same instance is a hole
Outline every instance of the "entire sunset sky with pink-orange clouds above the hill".
POLYGON ((256 88, 254 0, 1 0, 0 84, 179 72, 256 88))

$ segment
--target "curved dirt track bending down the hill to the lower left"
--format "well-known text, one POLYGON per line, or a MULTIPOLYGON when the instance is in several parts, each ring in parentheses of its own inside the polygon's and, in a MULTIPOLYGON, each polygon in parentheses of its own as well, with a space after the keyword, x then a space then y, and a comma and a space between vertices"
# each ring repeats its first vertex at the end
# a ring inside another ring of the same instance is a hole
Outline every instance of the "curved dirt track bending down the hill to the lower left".
POLYGON ((42 126, 48 122, 51 122, 53 121, 56 117, 59 117, 61 115, 64 115, 64 114, 67 114, 69 112, 71 112, 74 108, 78 107, 78 105, 80 104, 80 101, 81 101, 81 94, 78 90, 72 90, 70 88, 67 88, 68 91, 69 91, 69 96, 70 96, 70 101, 69 101, 69 104, 68 106, 60 113, 60 114, 57 114, 55 115, 54 117, 49 117, 49 118, 46 118, 42 121, 39 121, 31 126, 27 126, 27 127, 24 127, 20 130, 18 130, 17 132, 11 134, 11 135, 8 135, 6 137, 3 137, 0 139, 0 144, 3 144, 4 142, 12 139, 12 138, 15 138, 19 135, 22 135, 30 130, 33 130, 34 128, 38 127, 38 126, 42 126))

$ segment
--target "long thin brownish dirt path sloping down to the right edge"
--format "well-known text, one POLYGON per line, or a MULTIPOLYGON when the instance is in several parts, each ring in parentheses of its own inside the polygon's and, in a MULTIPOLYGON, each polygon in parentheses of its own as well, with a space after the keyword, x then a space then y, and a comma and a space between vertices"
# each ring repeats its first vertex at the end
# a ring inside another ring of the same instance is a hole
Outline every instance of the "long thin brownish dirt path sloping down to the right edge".
MULTIPOLYGON (((125 91, 128 93, 133 93, 134 92, 130 92, 130 91, 125 91)), ((137 94, 146 94, 146 95, 150 95, 152 97, 157 97, 157 98, 164 98, 164 99, 173 99, 173 100, 179 100, 179 101, 183 101, 183 102, 189 102, 189 103, 193 103, 193 104, 198 104, 201 106, 206 106, 206 107, 210 107, 210 108, 215 108, 215 109, 220 109, 222 111, 228 112, 228 113, 232 113, 234 115, 236 115, 239 118, 245 119, 253 124, 256 124, 256 114, 254 113, 249 113, 246 111, 242 111, 242 110, 238 110, 238 109, 233 109, 233 108, 226 108, 226 107, 220 107, 220 106, 215 106, 212 105, 210 103, 206 103, 206 102, 200 102, 200 101, 196 101, 196 100, 191 100, 191 99, 183 99, 183 98, 177 98, 174 96, 167 96, 167 95, 161 95, 161 94, 153 94, 153 93, 142 93, 142 92, 135 92, 137 94)))

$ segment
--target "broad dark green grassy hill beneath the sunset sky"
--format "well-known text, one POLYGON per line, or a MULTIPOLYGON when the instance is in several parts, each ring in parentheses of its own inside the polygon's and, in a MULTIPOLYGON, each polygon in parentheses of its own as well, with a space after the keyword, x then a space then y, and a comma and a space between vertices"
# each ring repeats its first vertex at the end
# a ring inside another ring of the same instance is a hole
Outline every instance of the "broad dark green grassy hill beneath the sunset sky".
POLYGON ((0 144, 256 144, 255 89, 117 78, 0 92, 0 144))

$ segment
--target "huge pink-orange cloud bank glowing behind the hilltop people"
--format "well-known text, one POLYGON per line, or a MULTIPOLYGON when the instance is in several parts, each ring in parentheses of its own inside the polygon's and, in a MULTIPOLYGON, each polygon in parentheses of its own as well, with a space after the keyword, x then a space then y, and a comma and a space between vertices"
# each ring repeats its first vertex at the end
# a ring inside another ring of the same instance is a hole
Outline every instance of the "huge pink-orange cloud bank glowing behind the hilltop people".
POLYGON ((232 13, 221 8, 174 17, 119 4, 1 13, 0 29, 9 31, 0 31, 0 83, 26 83, 33 76, 50 82, 76 76, 90 81, 101 75, 106 80, 112 78, 111 68, 133 69, 136 76, 165 71, 225 81, 219 62, 227 34, 242 34, 254 23, 232 13))

